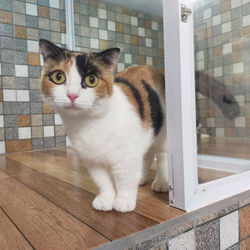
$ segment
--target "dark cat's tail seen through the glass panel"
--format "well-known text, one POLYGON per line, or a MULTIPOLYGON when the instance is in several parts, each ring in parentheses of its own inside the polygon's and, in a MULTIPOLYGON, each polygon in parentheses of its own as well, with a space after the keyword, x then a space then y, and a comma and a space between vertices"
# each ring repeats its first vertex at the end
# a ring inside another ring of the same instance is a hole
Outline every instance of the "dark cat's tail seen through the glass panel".
POLYGON ((228 119, 239 116, 240 106, 225 84, 211 76, 195 72, 195 89, 212 99, 228 119))

